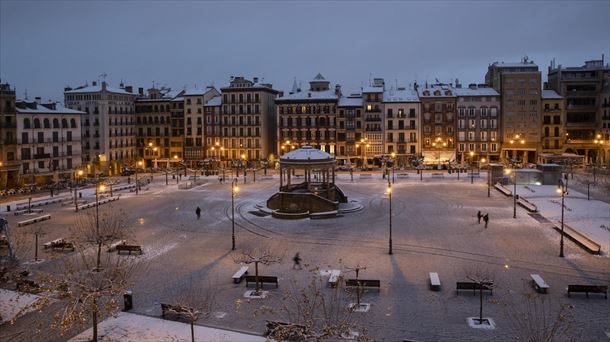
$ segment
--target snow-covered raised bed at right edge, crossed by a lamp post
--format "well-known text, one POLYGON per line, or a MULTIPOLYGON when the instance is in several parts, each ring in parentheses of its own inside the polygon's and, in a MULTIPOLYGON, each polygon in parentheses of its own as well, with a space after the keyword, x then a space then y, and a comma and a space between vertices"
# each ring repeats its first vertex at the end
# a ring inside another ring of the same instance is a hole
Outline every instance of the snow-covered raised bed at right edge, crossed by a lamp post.
MULTIPOLYGON (((518 185, 517 194, 538 207, 542 216, 555 224, 561 222, 561 195, 554 185, 518 185)), ((578 230, 601 245, 606 254, 610 251, 610 232, 601 228, 610 227, 610 205, 587 200, 587 195, 568 188, 564 199, 564 223, 578 230)))

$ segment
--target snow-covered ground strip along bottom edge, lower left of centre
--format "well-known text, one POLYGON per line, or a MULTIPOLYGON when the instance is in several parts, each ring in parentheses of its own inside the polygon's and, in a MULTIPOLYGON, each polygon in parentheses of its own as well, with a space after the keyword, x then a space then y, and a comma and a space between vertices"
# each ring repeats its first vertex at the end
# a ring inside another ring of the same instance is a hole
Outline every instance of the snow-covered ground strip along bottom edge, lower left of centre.
MULTIPOLYGON (((102 341, 190 341, 191 328, 189 324, 168 321, 160 318, 121 312, 117 317, 111 317, 98 327, 102 341)), ((70 339, 73 342, 89 341, 92 329, 70 339)), ((195 326, 195 341, 265 341, 258 335, 223 330, 200 325, 195 326)))

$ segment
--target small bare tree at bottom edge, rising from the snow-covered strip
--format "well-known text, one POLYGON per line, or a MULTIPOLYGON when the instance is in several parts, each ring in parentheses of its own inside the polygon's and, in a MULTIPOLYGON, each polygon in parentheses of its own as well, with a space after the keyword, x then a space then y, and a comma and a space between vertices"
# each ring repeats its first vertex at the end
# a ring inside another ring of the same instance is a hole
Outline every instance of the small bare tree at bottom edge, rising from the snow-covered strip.
POLYGON ((195 322, 200 318, 207 318, 215 305, 216 291, 211 283, 202 285, 200 282, 189 281, 188 288, 181 291, 171 300, 167 309, 170 314, 183 317, 191 326, 191 341, 195 342, 195 322))

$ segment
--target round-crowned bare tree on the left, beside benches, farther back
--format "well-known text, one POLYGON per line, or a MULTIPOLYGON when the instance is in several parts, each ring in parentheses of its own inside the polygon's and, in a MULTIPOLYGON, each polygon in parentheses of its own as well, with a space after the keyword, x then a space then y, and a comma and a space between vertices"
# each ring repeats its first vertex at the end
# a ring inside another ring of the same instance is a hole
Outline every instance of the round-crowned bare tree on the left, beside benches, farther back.
POLYGON ((126 239, 132 233, 125 212, 115 209, 112 205, 96 208, 91 212, 81 211, 71 232, 74 241, 94 246, 97 249, 96 270, 101 267, 102 246, 109 245, 116 240, 126 239))

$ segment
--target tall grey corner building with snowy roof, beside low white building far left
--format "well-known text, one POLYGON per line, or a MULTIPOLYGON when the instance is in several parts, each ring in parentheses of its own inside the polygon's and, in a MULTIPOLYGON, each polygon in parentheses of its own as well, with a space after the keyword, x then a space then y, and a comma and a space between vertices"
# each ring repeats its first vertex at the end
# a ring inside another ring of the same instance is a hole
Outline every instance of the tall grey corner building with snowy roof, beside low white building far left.
POLYGON ((85 112, 81 138, 87 174, 119 174, 137 158, 137 94, 132 91, 131 86, 115 88, 105 81, 64 89, 66 107, 85 112))

